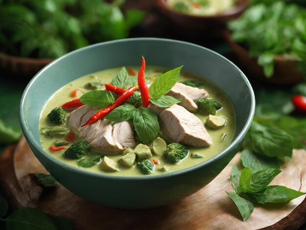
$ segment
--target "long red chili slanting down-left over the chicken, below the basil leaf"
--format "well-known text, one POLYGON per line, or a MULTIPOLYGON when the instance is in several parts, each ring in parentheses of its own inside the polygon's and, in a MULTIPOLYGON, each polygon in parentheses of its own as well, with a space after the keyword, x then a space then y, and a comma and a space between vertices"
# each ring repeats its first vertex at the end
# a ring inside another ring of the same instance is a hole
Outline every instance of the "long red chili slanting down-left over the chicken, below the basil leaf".
POLYGON ((131 94, 133 94, 133 92, 135 92, 136 90, 137 90, 136 86, 132 86, 129 89, 127 89, 121 96, 119 96, 117 98, 117 100, 113 104, 109 105, 108 107, 105 107, 104 109, 102 109, 102 110, 98 111, 97 113, 95 113, 94 115, 92 115, 85 122, 85 124, 83 124, 81 127, 93 124, 97 120, 104 118, 106 115, 109 114, 110 111, 112 111, 114 108, 118 107, 123 102, 128 100, 130 98, 131 94))

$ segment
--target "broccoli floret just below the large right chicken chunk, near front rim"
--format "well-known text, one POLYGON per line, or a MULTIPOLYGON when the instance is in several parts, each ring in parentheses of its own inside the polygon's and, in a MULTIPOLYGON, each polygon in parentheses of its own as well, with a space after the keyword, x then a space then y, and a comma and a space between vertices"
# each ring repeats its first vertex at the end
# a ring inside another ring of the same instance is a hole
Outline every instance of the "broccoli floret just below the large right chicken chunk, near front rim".
POLYGON ((179 143, 171 143, 167 145, 167 149, 164 152, 164 157, 170 163, 177 163, 183 160, 188 155, 189 150, 186 146, 179 143))

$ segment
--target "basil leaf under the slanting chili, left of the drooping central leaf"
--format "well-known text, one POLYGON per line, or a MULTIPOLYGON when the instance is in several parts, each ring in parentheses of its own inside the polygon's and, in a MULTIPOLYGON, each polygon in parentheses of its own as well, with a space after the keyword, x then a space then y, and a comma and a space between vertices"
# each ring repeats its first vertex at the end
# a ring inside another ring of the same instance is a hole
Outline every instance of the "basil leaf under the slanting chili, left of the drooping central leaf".
POLYGON ((123 104, 113 109, 105 118, 111 121, 131 120, 135 116, 136 107, 131 104, 123 104))

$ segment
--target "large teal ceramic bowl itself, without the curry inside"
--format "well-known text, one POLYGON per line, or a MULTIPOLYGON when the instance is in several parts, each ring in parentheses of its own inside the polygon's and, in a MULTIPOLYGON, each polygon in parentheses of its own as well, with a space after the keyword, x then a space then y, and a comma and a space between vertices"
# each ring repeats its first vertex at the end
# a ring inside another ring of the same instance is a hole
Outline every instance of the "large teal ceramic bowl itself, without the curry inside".
POLYGON ((100 43, 70 52, 42 69, 26 87, 20 121, 32 151, 50 174, 71 192, 109 207, 148 208, 187 197, 210 183, 238 152, 255 107, 252 87, 232 62, 194 44, 156 38, 135 38, 100 43), (144 55, 150 65, 175 68, 203 76, 232 100, 237 129, 232 143, 208 161, 164 175, 119 177, 92 173, 67 165, 44 152, 38 122, 49 97, 85 74, 120 66, 137 66, 144 55))

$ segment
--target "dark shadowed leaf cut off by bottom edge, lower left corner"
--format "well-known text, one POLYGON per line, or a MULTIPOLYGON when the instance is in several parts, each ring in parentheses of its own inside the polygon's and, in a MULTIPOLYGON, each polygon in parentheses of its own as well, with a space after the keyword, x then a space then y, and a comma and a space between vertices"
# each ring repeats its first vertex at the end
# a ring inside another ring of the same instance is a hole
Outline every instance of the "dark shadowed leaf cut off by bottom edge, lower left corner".
POLYGON ((7 230, 58 230, 54 221, 43 211, 33 207, 23 207, 6 218, 7 230))

